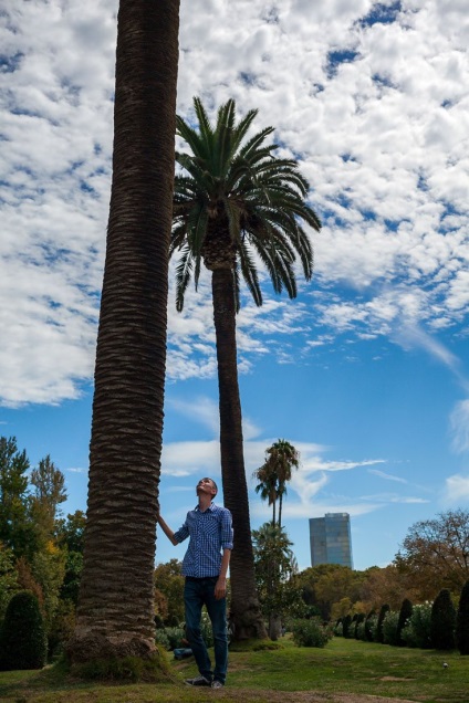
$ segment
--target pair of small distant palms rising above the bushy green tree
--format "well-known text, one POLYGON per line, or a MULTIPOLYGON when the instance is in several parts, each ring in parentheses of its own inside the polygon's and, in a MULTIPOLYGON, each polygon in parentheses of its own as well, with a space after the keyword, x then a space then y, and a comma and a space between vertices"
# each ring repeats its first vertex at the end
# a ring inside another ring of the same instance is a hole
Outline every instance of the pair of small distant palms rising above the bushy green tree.
POLYGON ((278 440, 265 451, 265 462, 257 471, 254 476, 259 481, 256 493, 261 494, 262 500, 268 500, 273 505, 272 525, 275 525, 275 505, 279 501, 279 527, 282 526, 282 503, 286 494, 286 483, 292 479, 292 469, 300 465, 300 452, 286 442, 278 440))

